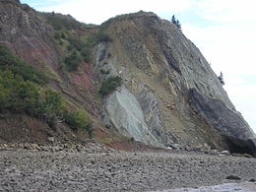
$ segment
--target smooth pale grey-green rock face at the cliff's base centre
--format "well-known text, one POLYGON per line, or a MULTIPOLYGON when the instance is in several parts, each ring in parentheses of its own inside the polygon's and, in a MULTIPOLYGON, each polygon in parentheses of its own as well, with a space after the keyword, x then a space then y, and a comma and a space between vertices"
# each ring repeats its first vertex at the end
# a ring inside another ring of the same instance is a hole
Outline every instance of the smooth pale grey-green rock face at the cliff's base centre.
POLYGON ((123 135, 153 146, 162 146, 151 134, 140 103, 124 86, 106 97, 105 112, 110 123, 123 135))

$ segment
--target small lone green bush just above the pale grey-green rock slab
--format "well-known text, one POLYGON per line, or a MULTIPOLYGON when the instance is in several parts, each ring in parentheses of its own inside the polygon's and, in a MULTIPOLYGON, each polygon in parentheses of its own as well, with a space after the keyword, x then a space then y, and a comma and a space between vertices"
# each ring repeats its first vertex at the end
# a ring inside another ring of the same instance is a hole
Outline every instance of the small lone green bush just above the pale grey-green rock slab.
POLYGON ((101 87, 99 88, 99 94, 101 96, 106 96, 112 93, 116 88, 122 85, 122 79, 118 76, 109 77, 102 82, 101 87))

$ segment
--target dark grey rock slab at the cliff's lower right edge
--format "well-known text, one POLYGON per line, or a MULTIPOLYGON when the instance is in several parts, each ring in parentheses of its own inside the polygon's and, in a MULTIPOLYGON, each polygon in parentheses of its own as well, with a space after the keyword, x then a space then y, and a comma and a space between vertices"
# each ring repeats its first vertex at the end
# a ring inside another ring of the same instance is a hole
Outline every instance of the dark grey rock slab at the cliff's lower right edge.
POLYGON ((222 100, 202 96, 195 89, 188 95, 195 110, 224 136, 231 152, 256 155, 256 135, 240 113, 226 107, 222 100))

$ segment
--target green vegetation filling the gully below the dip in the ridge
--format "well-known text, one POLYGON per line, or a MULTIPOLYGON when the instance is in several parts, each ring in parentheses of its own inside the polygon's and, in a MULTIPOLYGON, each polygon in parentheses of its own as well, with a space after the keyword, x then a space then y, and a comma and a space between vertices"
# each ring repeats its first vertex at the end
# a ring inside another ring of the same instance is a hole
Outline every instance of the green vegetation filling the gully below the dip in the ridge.
POLYGON ((77 71, 79 63, 92 63, 92 48, 99 41, 111 41, 109 35, 102 29, 90 32, 88 29, 96 26, 81 24, 70 15, 44 14, 46 22, 55 30, 54 38, 63 46, 62 50, 69 52, 63 59, 68 72, 77 71))

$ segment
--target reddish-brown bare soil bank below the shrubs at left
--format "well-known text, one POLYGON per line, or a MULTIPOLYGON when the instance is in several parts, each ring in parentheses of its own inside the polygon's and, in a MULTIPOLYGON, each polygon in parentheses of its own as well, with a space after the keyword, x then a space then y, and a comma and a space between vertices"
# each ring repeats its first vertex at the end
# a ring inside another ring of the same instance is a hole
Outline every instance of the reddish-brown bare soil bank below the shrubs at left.
MULTIPOLYGON (((82 136, 88 137, 86 134, 82 136)), ((49 142, 48 137, 53 137, 56 142, 77 141, 76 133, 64 124, 58 123, 56 128, 52 129, 44 121, 26 114, 1 114, 0 142, 2 143, 45 143, 49 142)))

